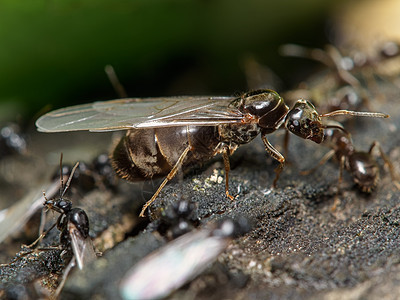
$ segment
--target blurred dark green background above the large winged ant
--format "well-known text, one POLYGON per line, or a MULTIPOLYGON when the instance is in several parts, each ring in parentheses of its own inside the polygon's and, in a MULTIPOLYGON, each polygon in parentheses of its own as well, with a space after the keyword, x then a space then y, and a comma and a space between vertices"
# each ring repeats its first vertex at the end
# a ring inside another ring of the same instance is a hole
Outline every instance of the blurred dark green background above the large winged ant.
POLYGON ((290 85, 302 62, 280 57, 279 45, 325 44, 325 24, 337 5, 2 0, 0 120, 33 120, 46 109, 117 98, 104 72, 107 64, 132 97, 245 91, 242 62, 248 55, 290 85))

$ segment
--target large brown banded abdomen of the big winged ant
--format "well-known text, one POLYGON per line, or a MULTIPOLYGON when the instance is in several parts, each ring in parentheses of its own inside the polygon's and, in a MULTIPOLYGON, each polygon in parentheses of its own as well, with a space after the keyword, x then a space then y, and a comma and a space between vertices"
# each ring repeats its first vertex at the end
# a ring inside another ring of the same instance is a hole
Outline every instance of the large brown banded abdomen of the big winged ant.
POLYGON ((129 181, 167 175, 190 147, 182 167, 213 157, 220 143, 217 126, 177 126, 130 130, 112 153, 117 174, 129 181))

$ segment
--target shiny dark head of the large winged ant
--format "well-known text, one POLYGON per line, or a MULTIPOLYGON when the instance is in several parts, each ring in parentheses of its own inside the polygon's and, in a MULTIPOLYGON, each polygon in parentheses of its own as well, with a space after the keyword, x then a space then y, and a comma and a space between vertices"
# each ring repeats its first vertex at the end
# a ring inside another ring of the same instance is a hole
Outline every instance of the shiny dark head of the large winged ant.
POLYGON ((324 140, 324 126, 321 117, 311 102, 297 100, 285 119, 285 127, 291 133, 320 144, 324 140))

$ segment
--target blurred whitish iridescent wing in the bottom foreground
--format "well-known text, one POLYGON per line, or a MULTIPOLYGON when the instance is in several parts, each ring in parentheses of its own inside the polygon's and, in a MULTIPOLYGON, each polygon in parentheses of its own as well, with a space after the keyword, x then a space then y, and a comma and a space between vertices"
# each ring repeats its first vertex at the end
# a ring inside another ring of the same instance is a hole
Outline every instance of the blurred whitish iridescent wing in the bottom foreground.
POLYGON ((229 237, 189 232, 138 262, 120 284, 123 299, 162 299, 201 274, 227 247, 229 237))

